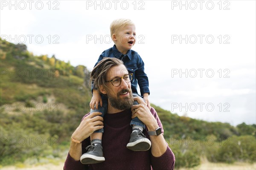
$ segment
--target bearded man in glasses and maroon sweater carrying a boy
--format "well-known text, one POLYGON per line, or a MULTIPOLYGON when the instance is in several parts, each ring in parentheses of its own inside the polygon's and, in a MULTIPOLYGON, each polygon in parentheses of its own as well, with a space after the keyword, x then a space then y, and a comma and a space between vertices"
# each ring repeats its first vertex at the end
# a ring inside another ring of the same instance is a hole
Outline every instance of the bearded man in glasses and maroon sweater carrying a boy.
MULTIPOLYGON (((108 112, 104 116, 104 134, 102 146, 105 161, 97 164, 82 164, 80 157, 90 145, 90 135, 103 128, 101 113, 85 115, 79 127, 72 134, 70 151, 64 164, 64 170, 172 170, 175 156, 163 138, 163 129, 154 108, 149 111, 143 99, 131 92, 131 79, 122 61, 116 58, 104 58, 91 73, 94 86, 101 94, 108 96, 108 112), (114 84, 113 84, 114 83, 114 84), (137 100, 139 105, 133 105, 137 100), (138 117, 145 125, 145 137, 151 141, 151 149, 134 152, 126 147, 132 128, 131 119, 138 117)), ((97 150, 95 150, 97 151, 97 150)), ((98 154, 98 153, 97 153, 98 154)), ((101 153, 99 153, 101 154, 101 153)))

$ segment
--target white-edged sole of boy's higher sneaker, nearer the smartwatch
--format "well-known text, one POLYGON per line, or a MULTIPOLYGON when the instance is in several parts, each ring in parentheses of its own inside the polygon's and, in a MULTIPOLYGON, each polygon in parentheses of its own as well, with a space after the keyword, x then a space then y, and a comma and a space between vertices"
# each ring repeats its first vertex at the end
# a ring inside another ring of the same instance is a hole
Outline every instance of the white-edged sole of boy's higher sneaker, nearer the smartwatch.
POLYGON ((130 142, 126 145, 126 147, 129 150, 133 150, 133 151, 146 151, 150 149, 151 142, 149 139, 144 138, 144 139, 139 139, 135 142, 130 142))

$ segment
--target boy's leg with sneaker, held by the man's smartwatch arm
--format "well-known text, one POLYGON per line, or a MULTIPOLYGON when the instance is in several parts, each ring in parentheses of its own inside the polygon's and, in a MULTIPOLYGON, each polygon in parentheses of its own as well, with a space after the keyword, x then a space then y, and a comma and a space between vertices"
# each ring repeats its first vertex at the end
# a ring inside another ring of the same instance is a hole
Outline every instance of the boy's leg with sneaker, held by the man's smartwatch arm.
MULTIPOLYGON (((139 96, 138 94, 133 93, 133 96, 139 96)), ((134 105, 138 105, 137 101, 134 101, 134 105)), ((151 142, 146 136, 142 133, 145 129, 145 125, 140 121, 139 118, 134 118, 131 120, 130 125, 132 126, 132 133, 129 143, 126 147, 133 151, 145 151, 149 150, 151 147, 151 142)))

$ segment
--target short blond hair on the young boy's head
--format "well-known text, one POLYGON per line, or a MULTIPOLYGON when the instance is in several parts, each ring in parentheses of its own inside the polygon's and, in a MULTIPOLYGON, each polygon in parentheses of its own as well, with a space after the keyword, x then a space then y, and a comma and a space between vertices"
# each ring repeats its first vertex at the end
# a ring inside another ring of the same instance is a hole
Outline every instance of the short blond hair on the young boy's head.
POLYGON ((119 30, 119 28, 123 28, 125 26, 130 26, 135 24, 130 19, 120 18, 117 20, 113 20, 113 22, 110 24, 110 35, 112 37, 113 34, 116 33, 116 31, 119 30))

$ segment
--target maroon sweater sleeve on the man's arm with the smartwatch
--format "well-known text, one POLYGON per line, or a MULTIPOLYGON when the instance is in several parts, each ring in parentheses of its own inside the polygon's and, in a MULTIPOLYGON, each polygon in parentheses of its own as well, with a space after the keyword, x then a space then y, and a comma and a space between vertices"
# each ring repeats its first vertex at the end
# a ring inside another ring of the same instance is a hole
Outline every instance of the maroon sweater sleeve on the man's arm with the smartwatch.
MULTIPOLYGON (((157 120, 157 123, 159 127, 161 127, 163 132, 163 125, 157 115, 157 112, 154 110, 154 108, 151 107, 151 113, 154 116, 154 118, 157 120)), ((167 143, 166 143, 167 144, 167 143)), ((151 166, 153 170, 173 170, 175 165, 175 156, 172 152, 171 148, 167 144, 166 152, 163 153, 162 156, 155 157, 151 153, 151 166)))

